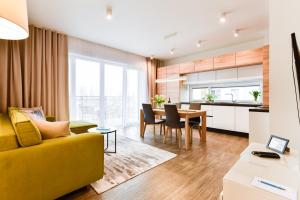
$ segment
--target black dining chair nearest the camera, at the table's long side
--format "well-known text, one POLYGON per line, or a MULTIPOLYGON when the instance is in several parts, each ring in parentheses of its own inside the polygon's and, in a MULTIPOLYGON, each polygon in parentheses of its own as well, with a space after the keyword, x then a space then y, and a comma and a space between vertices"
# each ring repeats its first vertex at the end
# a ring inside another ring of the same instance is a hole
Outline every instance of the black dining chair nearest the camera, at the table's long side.
POLYGON ((176 140, 178 140, 178 146, 181 148, 181 129, 185 127, 184 121, 180 121, 179 113, 175 104, 165 104, 166 112, 166 126, 167 131, 165 132, 164 143, 166 143, 168 133, 171 133, 172 130, 176 131, 176 140))

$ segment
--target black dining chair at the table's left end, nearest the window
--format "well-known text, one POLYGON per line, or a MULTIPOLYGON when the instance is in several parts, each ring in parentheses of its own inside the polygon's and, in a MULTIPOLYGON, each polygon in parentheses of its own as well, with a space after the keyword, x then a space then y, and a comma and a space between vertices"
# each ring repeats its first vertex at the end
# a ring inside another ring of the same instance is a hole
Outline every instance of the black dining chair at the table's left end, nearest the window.
POLYGON ((155 136, 155 125, 156 124, 160 124, 160 134, 162 132, 162 129, 164 129, 164 133, 165 133, 165 122, 166 121, 163 119, 155 119, 155 115, 154 115, 151 104, 142 104, 142 106, 143 106, 143 112, 144 112, 144 132, 143 132, 143 134, 145 134, 146 126, 149 124, 153 125, 154 136, 155 136))

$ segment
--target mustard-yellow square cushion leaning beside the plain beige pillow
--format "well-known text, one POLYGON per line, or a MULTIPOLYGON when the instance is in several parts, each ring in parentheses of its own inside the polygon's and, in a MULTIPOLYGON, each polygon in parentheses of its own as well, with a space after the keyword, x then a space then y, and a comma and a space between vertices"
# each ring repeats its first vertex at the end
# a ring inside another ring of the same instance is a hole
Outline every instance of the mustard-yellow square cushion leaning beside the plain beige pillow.
POLYGON ((9 109, 9 116, 22 147, 42 143, 40 131, 25 113, 17 109, 9 109))

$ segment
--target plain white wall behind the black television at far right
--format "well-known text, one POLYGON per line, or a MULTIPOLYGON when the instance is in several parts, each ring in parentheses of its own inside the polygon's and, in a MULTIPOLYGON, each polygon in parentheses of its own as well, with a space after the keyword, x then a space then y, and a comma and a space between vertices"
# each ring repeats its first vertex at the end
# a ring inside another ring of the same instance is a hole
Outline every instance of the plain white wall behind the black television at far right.
POLYGON ((300 45, 300 1, 270 0, 270 132, 300 150, 300 126, 292 76, 290 34, 300 45))

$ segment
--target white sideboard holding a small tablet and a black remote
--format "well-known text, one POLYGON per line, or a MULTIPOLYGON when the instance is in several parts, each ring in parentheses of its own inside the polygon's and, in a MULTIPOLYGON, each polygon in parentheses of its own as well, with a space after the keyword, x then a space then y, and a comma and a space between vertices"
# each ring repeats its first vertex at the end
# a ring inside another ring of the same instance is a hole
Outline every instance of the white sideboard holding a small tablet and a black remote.
POLYGON ((253 156, 252 151, 270 151, 264 144, 251 143, 240 159, 223 178, 223 200, 286 200, 274 193, 251 185, 254 177, 261 177, 298 191, 300 200, 299 154, 291 150, 281 159, 253 156))

